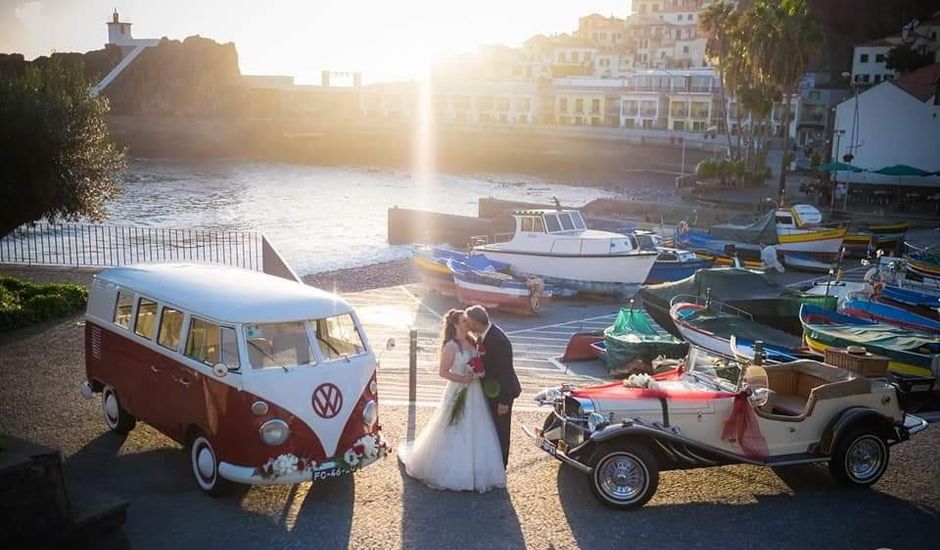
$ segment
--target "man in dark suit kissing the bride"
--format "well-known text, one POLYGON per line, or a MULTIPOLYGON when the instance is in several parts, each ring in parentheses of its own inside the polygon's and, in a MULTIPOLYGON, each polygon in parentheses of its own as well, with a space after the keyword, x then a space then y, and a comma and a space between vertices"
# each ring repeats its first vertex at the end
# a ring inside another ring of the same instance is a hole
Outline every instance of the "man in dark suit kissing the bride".
POLYGON ((509 432, 512 424, 512 402, 522 393, 516 370, 512 366, 512 344, 498 326, 490 322, 483 306, 466 309, 467 328, 480 335, 483 352, 483 393, 490 402, 490 413, 503 451, 503 466, 509 463, 509 432))

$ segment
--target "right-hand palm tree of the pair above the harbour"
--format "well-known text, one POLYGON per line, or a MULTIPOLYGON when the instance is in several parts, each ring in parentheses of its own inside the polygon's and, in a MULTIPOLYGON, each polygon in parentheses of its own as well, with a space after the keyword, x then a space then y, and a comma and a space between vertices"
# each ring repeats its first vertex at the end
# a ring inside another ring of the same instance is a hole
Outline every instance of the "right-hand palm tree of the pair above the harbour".
POLYGON ((778 193, 783 197, 790 140, 790 95, 823 41, 806 0, 759 0, 747 12, 749 50, 755 80, 776 88, 783 101, 783 159, 778 193))

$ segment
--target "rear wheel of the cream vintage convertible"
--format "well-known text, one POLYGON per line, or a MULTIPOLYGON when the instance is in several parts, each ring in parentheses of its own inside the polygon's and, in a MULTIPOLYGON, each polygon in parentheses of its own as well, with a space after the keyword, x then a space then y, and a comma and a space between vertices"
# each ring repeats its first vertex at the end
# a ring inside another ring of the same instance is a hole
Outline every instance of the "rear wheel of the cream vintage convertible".
POLYGON ((829 458, 829 471, 842 485, 869 487, 888 469, 890 456, 891 451, 881 435, 859 426, 839 438, 829 458))

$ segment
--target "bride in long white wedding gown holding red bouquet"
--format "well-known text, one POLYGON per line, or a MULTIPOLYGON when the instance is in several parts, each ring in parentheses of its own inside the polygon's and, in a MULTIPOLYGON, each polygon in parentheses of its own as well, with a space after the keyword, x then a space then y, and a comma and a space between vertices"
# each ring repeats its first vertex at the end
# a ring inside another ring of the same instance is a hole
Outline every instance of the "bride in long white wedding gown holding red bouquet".
POLYGON ((476 347, 463 310, 444 315, 439 375, 449 380, 428 425, 398 452, 408 475, 435 489, 486 492, 506 486, 499 437, 480 380, 469 365, 476 347), (454 405, 466 388, 462 414, 454 405))

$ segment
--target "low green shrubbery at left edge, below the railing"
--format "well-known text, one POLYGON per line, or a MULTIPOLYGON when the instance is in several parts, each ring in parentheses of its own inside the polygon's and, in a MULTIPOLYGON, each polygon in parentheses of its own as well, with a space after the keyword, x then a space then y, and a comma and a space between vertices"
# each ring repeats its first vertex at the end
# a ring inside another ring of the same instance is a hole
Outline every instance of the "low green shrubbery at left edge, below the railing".
POLYGON ((88 289, 73 284, 36 284, 0 275, 0 331, 55 319, 85 307, 88 289))

